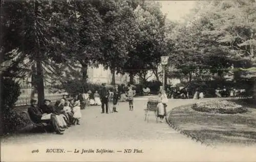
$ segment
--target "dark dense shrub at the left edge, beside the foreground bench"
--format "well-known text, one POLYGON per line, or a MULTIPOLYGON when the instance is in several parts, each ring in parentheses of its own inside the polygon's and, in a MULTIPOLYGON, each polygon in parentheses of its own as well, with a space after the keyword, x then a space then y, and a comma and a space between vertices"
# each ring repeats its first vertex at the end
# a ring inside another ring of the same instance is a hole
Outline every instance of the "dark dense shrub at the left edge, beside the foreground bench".
POLYGON ((1 77, 1 115, 3 132, 13 132, 24 126, 24 120, 12 110, 20 95, 20 87, 12 78, 1 77))

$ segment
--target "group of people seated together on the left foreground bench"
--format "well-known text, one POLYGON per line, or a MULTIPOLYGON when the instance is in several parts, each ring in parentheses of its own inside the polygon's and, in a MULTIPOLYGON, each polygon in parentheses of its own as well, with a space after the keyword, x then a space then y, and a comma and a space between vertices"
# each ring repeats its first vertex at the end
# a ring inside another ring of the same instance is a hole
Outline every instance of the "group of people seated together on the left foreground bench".
POLYGON ((66 95, 55 105, 51 105, 49 99, 44 99, 41 105, 38 105, 37 100, 32 99, 28 113, 34 123, 48 123, 57 134, 63 134, 63 131, 71 125, 79 125, 82 116, 80 101, 76 98, 67 98, 66 95))

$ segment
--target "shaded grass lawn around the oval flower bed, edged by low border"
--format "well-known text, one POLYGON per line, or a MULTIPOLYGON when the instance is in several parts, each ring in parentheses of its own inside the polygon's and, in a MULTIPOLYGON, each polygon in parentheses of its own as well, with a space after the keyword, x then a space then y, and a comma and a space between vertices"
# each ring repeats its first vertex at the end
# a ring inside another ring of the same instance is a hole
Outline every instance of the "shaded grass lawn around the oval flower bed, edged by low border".
POLYGON ((255 145, 256 104, 232 100, 248 107, 243 114, 210 114, 191 109, 191 105, 172 110, 169 120, 186 133, 212 145, 255 145))

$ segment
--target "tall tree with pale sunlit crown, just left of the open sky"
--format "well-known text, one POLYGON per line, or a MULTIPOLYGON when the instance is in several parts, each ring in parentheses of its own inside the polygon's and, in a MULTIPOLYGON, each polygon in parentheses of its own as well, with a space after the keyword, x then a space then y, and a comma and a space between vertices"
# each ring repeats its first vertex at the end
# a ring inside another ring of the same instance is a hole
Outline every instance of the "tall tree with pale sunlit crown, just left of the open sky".
POLYGON ((160 57, 166 53, 165 16, 160 7, 156 2, 144 2, 134 10, 137 29, 123 67, 123 71, 130 73, 131 83, 134 75, 145 82, 148 70, 158 76, 160 57))

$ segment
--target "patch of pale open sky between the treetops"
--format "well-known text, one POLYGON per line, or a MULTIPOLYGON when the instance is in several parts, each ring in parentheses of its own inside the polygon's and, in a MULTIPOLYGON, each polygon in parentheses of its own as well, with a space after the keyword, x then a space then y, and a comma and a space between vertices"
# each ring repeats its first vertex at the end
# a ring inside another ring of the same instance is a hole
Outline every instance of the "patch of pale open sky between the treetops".
POLYGON ((159 1, 162 3, 162 12, 167 18, 173 21, 183 21, 182 17, 189 14, 196 1, 159 1))

